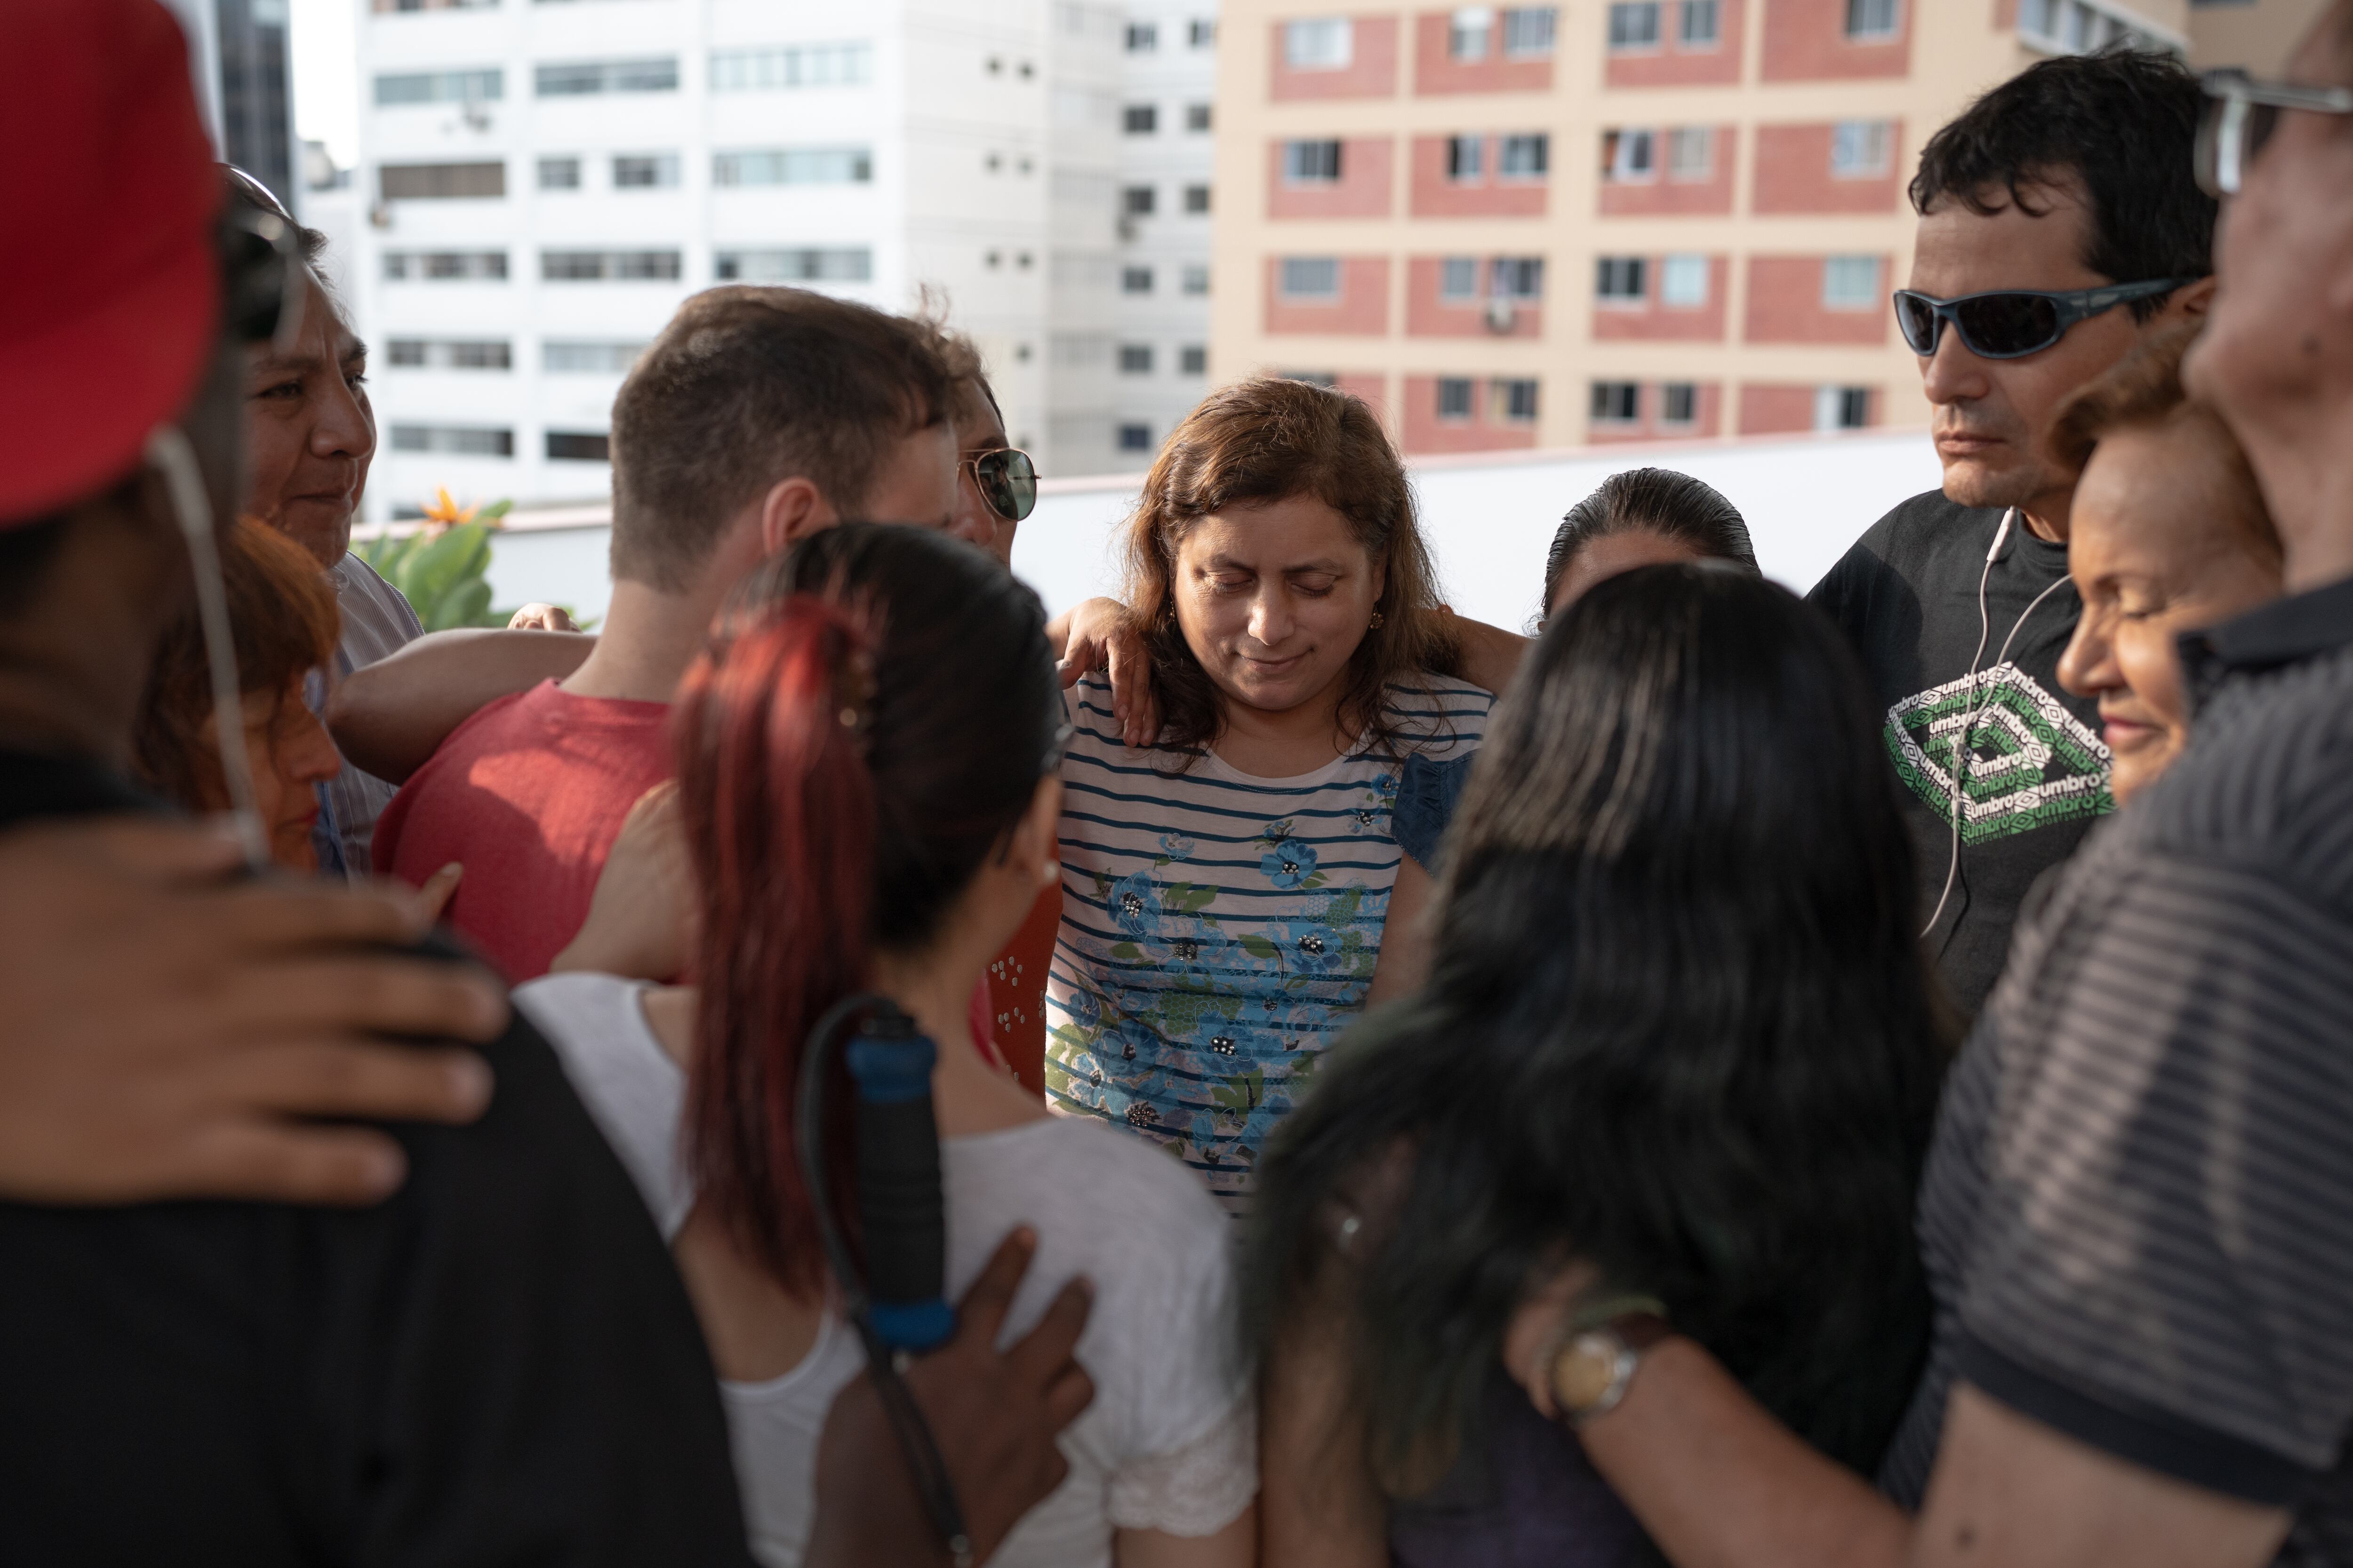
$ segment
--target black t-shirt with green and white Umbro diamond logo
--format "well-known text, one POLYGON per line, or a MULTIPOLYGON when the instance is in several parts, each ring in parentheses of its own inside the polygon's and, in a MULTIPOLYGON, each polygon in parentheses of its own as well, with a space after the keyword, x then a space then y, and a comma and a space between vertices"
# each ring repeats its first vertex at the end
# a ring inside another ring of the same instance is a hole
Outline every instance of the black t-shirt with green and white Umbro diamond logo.
POLYGON ((2002 508, 1967 508, 1941 491, 1913 496, 1871 524, 1807 595, 1847 632, 1878 698, 1880 743, 1904 785, 1920 867, 1922 926, 1951 870, 1953 891, 1927 943, 1965 1013, 1984 1006, 2002 971, 2026 889, 2115 809, 2099 705, 2059 686, 2059 654, 2082 614, 2066 581, 2066 545, 2035 538, 2021 517, 1988 571, 2000 524, 2002 508))

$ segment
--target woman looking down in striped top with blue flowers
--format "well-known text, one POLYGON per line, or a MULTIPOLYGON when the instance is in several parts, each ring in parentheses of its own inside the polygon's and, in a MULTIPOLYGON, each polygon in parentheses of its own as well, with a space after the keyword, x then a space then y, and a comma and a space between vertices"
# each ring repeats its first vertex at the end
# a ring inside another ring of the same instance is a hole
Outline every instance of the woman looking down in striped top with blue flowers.
POLYGON ((1454 677, 1412 491, 1360 400, 1212 395, 1127 529, 1165 717, 1071 689, 1047 1103, 1247 1208, 1275 1121, 1367 1001, 1412 990, 1428 863, 1487 724, 1454 677))

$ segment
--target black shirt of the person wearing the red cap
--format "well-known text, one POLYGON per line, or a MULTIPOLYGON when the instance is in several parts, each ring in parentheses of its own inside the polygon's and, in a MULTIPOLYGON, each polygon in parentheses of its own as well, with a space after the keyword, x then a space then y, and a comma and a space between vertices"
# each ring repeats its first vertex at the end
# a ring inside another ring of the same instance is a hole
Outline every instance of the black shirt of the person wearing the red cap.
MULTIPOLYGON (((141 806, 0 752, 0 827, 141 806)), ((485 1056, 372 1208, 0 1204, 0 1563, 748 1568, 652 1215, 520 1016, 485 1056)))

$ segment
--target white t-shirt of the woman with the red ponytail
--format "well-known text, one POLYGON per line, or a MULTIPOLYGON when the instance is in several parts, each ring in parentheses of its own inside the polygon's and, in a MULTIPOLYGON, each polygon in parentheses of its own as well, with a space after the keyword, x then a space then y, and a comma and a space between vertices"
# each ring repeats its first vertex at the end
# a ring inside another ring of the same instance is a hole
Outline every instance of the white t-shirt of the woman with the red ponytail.
MULTIPOLYGON (((515 1006, 548 1037, 635 1178, 664 1237, 694 1208, 685 1168, 687 1079, 645 1023, 645 985, 546 976, 515 1006)), ((1075 1274, 1094 1281, 1078 1361, 1094 1403, 1061 1436, 1068 1479, 991 1563, 1111 1568, 1120 1528, 1214 1535, 1259 1490, 1257 1401, 1231 1354, 1231 1225, 1169 1157, 1087 1121, 1040 1119, 941 1143, 948 1293, 960 1295, 1016 1225, 1038 1255, 1007 1335, 1026 1333, 1075 1274)), ((800 1366, 722 1382, 753 1556, 800 1561, 814 1514, 816 1436, 866 1352, 826 1319, 800 1366)))

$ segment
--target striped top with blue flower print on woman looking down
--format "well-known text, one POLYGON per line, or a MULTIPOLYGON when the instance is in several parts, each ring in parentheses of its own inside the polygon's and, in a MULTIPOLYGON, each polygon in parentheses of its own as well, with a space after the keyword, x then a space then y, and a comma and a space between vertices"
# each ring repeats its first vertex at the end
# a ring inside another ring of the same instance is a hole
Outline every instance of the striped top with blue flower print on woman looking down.
POLYGON ((1405 769, 1468 762, 1494 698, 1393 686, 1402 757, 1355 750, 1299 778, 1214 752, 1179 773, 1176 752, 1120 745, 1101 679, 1068 701, 1047 1107, 1158 1143, 1242 1213, 1266 1138, 1365 1006, 1405 769))

